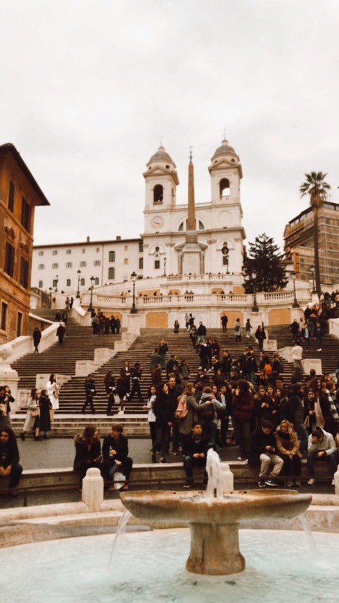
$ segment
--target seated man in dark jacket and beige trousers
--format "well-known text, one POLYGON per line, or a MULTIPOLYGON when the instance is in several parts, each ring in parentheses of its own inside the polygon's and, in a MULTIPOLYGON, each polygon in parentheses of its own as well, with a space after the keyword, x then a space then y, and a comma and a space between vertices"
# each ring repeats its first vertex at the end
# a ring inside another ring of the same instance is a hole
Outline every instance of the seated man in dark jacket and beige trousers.
POLYGON ((259 471, 259 488, 277 487, 275 478, 279 475, 284 460, 276 453, 275 434, 270 421, 262 421, 261 425, 252 432, 250 441, 250 457, 248 464, 257 465, 261 463, 259 471), (270 470, 270 466, 272 469, 270 470))

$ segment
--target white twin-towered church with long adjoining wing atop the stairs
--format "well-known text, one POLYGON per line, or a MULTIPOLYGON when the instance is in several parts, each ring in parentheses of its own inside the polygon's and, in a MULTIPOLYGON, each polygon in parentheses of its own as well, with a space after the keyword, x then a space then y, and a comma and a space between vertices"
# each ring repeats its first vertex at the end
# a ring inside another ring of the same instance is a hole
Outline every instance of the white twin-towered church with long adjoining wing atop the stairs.
MULTIPOLYGON (((34 247, 32 284, 45 291, 73 294, 91 285, 109 288, 139 277, 225 274, 227 291, 243 289, 240 180, 238 155, 227 140, 211 158, 211 200, 195 204, 191 170, 191 223, 189 199, 177 204, 179 177, 173 159, 160 146, 146 164, 144 234, 140 238, 90 241, 34 247), (188 233, 191 232, 189 235, 188 233), (236 277, 237 275, 237 277, 236 277), (227 282, 226 282, 227 281, 227 282)), ((219 283, 220 284, 220 283, 219 283)))

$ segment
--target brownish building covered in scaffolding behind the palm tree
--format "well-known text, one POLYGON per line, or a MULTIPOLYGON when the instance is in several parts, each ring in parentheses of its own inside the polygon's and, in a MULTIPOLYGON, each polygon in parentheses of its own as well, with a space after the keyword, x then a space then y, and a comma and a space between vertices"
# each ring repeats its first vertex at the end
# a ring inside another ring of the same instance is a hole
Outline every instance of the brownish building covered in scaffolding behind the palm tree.
MULTIPOLYGON (((313 209, 308 207, 290 220, 284 231, 286 260, 297 279, 312 281, 314 270, 313 209)), ((320 281, 325 286, 339 281, 339 204, 324 202, 318 210, 320 281)))

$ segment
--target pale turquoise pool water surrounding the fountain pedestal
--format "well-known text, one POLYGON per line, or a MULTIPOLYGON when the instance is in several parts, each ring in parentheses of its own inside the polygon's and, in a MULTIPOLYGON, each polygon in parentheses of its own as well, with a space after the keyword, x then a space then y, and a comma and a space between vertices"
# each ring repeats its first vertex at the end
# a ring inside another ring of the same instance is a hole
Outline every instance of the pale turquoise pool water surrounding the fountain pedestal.
POLYGON ((303 532, 241 530, 247 568, 229 576, 182 570, 188 529, 126 533, 107 573, 112 534, 18 545, 0 551, 1 598, 15 603, 28 596, 34 603, 335 601, 339 534, 314 536, 316 555, 303 532))

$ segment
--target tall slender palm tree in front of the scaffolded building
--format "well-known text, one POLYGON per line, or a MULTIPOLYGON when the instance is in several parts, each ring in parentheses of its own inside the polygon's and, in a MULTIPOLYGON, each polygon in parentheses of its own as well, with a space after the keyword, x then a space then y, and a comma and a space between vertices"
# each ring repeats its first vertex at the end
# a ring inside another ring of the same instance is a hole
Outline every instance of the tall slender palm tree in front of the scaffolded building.
POLYGON ((311 172, 305 174, 306 181, 300 186, 300 193, 310 195, 310 205, 313 209, 313 241, 314 241, 314 272, 315 272, 315 289, 318 297, 321 295, 320 285, 320 263, 319 263, 319 229, 318 229, 318 211, 326 200, 327 191, 331 186, 324 182, 327 174, 322 172, 311 172))

